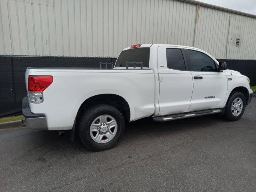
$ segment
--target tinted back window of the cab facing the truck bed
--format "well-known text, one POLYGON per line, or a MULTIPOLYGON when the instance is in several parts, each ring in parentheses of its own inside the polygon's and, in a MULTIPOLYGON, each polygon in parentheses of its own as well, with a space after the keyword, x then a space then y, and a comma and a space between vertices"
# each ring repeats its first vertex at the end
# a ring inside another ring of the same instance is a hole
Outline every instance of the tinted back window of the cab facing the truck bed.
POLYGON ((148 67, 149 55, 150 48, 148 47, 128 49, 120 53, 115 66, 126 67, 126 62, 143 62, 143 67, 148 67))

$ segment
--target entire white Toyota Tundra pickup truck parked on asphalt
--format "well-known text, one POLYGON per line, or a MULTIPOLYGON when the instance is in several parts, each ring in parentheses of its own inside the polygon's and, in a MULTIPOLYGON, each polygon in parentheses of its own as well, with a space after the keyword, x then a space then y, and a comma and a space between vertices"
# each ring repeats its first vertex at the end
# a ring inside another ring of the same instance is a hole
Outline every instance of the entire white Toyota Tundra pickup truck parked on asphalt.
POLYGON ((252 99, 249 82, 203 50, 137 44, 111 69, 28 67, 22 121, 28 128, 76 130, 85 146, 106 150, 125 121, 217 113, 238 120, 252 99))

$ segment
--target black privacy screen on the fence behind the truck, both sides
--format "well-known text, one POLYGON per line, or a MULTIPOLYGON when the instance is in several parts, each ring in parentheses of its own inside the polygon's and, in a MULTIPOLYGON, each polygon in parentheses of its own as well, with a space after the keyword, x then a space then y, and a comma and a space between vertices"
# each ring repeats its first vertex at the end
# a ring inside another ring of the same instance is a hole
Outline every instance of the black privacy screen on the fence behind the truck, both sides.
MULTIPOLYGON (((233 69, 248 76, 256 84, 256 60, 223 60, 233 69)), ((99 68, 100 62, 115 62, 116 58, 0 56, 0 116, 21 112, 26 96, 27 67, 99 68)))

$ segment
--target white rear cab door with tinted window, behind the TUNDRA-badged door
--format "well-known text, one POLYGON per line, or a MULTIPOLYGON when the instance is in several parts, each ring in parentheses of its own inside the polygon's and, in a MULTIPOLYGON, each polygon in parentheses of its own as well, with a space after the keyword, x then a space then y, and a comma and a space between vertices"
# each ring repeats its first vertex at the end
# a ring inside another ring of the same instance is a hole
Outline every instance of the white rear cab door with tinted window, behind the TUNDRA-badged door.
POLYGON ((193 80, 182 47, 158 47, 158 73, 159 115, 187 112, 193 80))

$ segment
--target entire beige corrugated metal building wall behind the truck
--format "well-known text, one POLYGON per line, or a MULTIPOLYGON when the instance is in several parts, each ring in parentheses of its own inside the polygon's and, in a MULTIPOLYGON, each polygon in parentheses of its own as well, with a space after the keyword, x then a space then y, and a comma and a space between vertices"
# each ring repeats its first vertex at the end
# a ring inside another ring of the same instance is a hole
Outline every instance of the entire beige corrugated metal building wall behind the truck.
POLYGON ((256 18, 178 0, 0 0, 0 54, 117 57, 164 43, 256 59, 255 31, 256 18))

